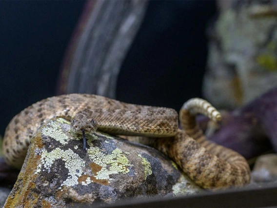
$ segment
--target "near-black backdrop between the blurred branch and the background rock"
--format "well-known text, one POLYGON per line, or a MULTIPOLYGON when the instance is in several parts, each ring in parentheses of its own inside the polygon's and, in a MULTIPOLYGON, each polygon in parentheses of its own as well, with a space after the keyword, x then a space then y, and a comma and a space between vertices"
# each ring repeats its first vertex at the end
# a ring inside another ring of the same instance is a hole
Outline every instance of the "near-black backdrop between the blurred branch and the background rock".
POLYGON ((206 28, 215 1, 150 1, 145 19, 123 62, 117 99, 179 111, 202 97, 207 56, 206 28))

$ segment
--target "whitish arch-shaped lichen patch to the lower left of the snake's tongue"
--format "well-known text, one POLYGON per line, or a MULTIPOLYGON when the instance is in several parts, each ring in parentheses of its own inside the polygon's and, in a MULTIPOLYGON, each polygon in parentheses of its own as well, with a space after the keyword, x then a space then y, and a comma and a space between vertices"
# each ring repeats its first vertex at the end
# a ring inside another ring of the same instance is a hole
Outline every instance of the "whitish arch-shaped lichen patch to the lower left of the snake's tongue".
POLYGON ((82 160, 78 154, 73 152, 71 149, 62 150, 59 147, 48 152, 46 149, 41 151, 41 164, 42 166, 37 167, 37 172, 47 171, 50 172, 51 166, 58 159, 61 159, 65 162, 65 168, 68 169, 68 177, 61 184, 61 186, 74 186, 78 184, 78 177, 81 176, 83 168, 85 167, 85 162, 82 160))

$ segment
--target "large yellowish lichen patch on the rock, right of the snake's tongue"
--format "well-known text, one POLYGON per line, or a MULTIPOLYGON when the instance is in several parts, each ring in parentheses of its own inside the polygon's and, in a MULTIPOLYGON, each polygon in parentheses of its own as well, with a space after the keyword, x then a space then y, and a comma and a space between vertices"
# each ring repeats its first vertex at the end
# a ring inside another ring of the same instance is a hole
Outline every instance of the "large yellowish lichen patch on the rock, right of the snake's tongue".
POLYGON ((112 180, 110 174, 128 173, 130 170, 128 158, 120 149, 115 149, 111 154, 104 154, 99 147, 90 146, 87 150, 90 159, 95 164, 101 166, 101 169, 96 172, 97 180, 112 180), (109 167, 107 167, 109 165, 109 167))

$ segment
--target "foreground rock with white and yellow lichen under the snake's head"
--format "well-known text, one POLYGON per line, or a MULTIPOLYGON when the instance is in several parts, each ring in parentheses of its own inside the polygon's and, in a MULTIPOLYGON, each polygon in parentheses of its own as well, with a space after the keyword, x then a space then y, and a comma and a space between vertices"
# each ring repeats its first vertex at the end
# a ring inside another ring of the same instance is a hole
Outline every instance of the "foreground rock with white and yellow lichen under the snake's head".
POLYGON ((63 119, 40 127, 5 207, 66 207, 201 189, 157 150, 101 132, 82 136, 63 119))

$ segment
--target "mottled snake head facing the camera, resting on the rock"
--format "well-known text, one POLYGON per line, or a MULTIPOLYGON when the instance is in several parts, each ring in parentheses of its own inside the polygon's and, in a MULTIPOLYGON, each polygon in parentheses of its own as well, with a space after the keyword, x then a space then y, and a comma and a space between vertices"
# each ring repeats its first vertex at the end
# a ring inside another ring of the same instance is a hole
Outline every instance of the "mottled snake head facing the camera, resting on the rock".
POLYGON ((84 114, 77 114, 71 122, 71 129, 73 132, 82 134, 83 130, 85 134, 91 134, 96 131, 98 124, 92 118, 84 114))

